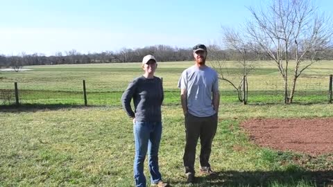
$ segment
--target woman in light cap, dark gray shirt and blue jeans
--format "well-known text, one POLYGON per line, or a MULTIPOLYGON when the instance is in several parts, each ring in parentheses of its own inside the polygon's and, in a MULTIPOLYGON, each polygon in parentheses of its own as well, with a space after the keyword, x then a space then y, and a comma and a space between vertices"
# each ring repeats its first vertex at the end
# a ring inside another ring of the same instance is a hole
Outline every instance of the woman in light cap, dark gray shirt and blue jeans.
POLYGON ((158 167, 158 149, 162 134, 161 105, 164 98, 162 81, 154 76, 157 62, 153 55, 142 60, 144 75, 130 82, 123 92, 121 103, 133 118, 135 139, 134 179, 136 186, 146 186, 144 159, 148 150, 148 166, 152 186, 168 186, 162 181, 158 167), (135 112, 130 106, 133 99, 135 112))

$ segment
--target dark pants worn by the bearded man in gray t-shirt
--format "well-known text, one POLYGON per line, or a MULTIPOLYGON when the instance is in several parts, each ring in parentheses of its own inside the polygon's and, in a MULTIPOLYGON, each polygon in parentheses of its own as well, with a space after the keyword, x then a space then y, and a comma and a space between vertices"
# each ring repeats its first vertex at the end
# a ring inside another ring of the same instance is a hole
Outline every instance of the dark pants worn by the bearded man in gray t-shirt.
POLYGON ((186 145, 182 157, 187 175, 194 174, 194 161, 196 159, 196 145, 200 137, 200 166, 210 167, 210 152, 216 134, 217 114, 209 117, 197 117, 189 113, 185 116, 186 145))

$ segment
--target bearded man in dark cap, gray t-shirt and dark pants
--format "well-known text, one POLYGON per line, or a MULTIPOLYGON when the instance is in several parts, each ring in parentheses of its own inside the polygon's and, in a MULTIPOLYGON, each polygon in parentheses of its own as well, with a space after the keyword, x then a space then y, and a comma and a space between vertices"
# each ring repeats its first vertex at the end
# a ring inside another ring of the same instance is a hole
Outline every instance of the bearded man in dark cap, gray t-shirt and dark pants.
POLYGON ((194 183, 196 144, 200 137, 200 174, 212 175, 210 152, 216 133, 220 94, 216 71, 205 64, 207 48, 198 44, 193 48, 196 64, 182 72, 178 81, 182 110, 185 116, 186 145, 184 152, 187 182, 194 183))

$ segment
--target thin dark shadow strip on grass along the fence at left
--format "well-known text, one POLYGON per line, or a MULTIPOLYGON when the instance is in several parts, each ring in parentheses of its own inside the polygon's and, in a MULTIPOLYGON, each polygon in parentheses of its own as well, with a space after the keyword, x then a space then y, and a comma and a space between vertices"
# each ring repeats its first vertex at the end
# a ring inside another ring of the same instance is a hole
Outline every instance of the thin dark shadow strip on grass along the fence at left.
POLYGON ((92 107, 105 107, 96 105, 72 105, 72 104, 22 104, 16 105, 2 105, 0 106, 0 112, 37 112, 40 110, 60 110, 60 109, 80 109, 80 108, 92 108, 92 107))

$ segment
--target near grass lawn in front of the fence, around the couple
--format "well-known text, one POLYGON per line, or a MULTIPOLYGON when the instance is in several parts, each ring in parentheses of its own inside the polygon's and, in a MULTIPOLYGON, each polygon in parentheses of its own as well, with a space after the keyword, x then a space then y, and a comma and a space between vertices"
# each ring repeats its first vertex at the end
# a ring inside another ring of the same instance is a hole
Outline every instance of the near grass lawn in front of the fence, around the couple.
MULTIPOLYGON (((185 186, 182 112, 180 106, 162 111, 161 172, 173 186, 185 186)), ((333 177, 332 154, 308 157, 259 148, 239 123, 332 116, 332 106, 325 104, 221 103, 211 157, 219 177, 199 177, 195 186, 322 185, 333 177), (294 162, 298 160, 306 162, 294 162)), ((133 126, 120 107, 3 109, 0 121, 0 186, 133 186, 133 126)), ((147 167, 145 171, 148 177, 147 167)))

